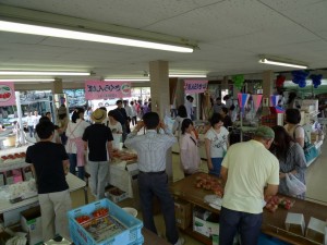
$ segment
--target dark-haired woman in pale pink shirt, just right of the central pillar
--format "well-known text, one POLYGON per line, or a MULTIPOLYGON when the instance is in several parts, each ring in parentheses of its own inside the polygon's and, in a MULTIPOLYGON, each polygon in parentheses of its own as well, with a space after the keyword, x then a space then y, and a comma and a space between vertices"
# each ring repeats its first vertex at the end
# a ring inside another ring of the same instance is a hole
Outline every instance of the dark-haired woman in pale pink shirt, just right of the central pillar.
POLYGON ((181 127, 182 134, 180 137, 180 157, 181 167, 185 176, 197 172, 201 163, 197 139, 193 130, 194 126, 192 120, 184 119, 181 127))

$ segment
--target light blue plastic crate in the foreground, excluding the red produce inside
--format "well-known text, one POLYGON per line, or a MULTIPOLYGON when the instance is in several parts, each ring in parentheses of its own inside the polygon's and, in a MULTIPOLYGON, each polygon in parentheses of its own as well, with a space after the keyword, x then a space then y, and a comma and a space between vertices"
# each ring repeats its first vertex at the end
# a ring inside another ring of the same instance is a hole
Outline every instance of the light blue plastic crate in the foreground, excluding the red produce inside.
POLYGON ((68 212, 70 235, 75 245, 138 245, 143 244, 144 238, 141 233, 143 222, 129 215, 114 203, 101 199, 68 212), (109 215, 126 226, 126 230, 116 234, 105 241, 97 243, 92 235, 76 222, 75 217, 81 215, 92 216, 96 209, 108 208, 109 215))

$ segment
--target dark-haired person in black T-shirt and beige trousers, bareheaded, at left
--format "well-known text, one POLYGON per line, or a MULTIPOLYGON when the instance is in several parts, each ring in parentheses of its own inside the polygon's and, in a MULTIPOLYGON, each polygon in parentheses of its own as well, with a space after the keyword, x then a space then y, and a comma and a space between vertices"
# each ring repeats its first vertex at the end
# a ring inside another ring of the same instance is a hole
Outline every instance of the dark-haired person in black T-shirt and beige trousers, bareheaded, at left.
POLYGON ((48 241, 56 234, 69 237, 66 212, 71 209, 72 203, 65 181, 69 157, 63 145, 51 142, 55 134, 53 123, 50 121, 38 123, 36 133, 40 142, 27 148, 25 161, 32 164, 37 183, 43 238, 48 241))

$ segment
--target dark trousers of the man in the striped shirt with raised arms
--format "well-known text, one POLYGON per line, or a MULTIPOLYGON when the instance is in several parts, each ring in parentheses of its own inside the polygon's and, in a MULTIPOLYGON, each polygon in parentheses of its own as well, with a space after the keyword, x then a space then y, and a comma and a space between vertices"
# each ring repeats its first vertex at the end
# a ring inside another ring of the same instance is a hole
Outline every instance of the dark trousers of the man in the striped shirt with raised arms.
POLYGON ((168 175, 166 173, 140 173, 138 191, 144 226, 157 234, 153 215, 153 198, 155 195, 160 201, 167 240, 169 243, 175 244, 179 240, 179 234, 175 225, 174 204, 168 189, 168 175))

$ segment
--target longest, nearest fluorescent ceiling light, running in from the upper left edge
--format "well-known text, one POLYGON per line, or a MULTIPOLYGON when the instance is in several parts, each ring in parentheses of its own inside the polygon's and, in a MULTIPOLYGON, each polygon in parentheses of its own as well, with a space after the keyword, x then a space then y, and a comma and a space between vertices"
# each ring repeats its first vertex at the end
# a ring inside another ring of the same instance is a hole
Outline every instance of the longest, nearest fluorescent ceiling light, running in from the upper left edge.
POLYGON ((10 32, 10 33, 48 36, 48 37, 68 38, 68 39, 75 39, 75 40, 105 42, 105 44, 112 44, 112 45, 132 46, 138 48, 159 49, 159 50, 174 51, 174 52, 193 52, 193 48, 191 47, 166 45, 166 44, 159 44, 155 41, 144 41, 144 40, 136 40, 132 38, 122 38, 122 37, 114 37, 109 35, 99 35, 99 34, 84 33, 84 32, 62 29, 62 28, 21 24, 21 23, 7 22, 7 21, 0 21, 0 30, 10 32))

